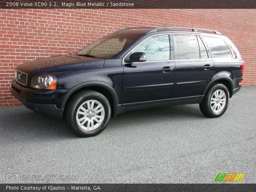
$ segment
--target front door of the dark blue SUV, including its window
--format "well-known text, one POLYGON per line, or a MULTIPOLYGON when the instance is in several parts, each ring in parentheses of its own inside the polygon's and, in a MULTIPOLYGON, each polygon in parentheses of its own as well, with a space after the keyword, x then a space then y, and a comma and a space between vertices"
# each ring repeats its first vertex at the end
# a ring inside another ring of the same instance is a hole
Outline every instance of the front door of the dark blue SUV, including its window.
MULTIPOLYGON (((133 106, 171 98, 174 84, 174 61, 170 60, 170 36, 147 38, 124 59, 122 104, 133 106), (131 53, 145 52, 145 62, 125 63, 131 53)), ((173 46, 171 46, 173 49, 173 46)))

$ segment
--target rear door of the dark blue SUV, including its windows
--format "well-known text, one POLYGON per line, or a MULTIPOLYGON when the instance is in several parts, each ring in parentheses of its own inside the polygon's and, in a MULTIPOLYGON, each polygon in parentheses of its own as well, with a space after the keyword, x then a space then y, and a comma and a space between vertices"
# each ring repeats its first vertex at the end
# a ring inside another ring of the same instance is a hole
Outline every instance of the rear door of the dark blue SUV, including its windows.
POLYGON ((214 62, 201 37, 174 34, 175 79, 172 98, 200 98, 214 73, 214 62))

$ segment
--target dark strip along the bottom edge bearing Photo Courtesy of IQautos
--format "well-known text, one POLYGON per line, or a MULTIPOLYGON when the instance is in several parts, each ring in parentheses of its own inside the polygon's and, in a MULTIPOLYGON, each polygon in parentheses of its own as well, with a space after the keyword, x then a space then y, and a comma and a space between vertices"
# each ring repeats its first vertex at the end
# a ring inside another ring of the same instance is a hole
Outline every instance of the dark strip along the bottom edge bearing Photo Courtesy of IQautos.
POLYGON ((255 192, 256 184, 0 184, 1 192, 255 192), (13 190, 6 189, 10 186, 13 190), (40 187, 40 190, 22 190, 40 187), (84 187, 74 190, 73 187, 84 187), (95 187, 96 186, 96 187, 95 187), (94 190, 94 188, 100 190, 94 190), (43 188, 46 187, 46 190, 43 188), (18 189, 17 189, 18 188, 18 189), (55 190, 50 190, 50 189, 55 190), (87 188, 87 190, 85 190, 87 188))

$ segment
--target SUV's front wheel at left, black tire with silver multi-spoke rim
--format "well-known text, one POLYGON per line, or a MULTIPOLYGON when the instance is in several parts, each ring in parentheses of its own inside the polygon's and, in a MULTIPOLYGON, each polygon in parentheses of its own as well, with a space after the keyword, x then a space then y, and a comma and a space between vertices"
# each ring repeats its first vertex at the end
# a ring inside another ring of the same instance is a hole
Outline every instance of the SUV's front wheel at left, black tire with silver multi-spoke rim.
POLYGON ((108 99, 93 90, 78 92, 70 98, 65 108, 66 125, 81 137, 95 136, 102 132, 108 125, 110 115, 108 99))

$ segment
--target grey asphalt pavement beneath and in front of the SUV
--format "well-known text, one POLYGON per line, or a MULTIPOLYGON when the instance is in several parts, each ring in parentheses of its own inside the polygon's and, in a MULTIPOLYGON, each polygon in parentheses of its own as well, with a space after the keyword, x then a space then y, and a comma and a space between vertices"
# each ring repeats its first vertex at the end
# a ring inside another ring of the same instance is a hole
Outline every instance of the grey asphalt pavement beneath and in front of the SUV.
POLYGON ((256 183, 255 96, 242 87, 220 118, 198 104, 126 112, 90 138, 24 106, 1 108, 0 183, 214 183, 218 173, 256 183))

